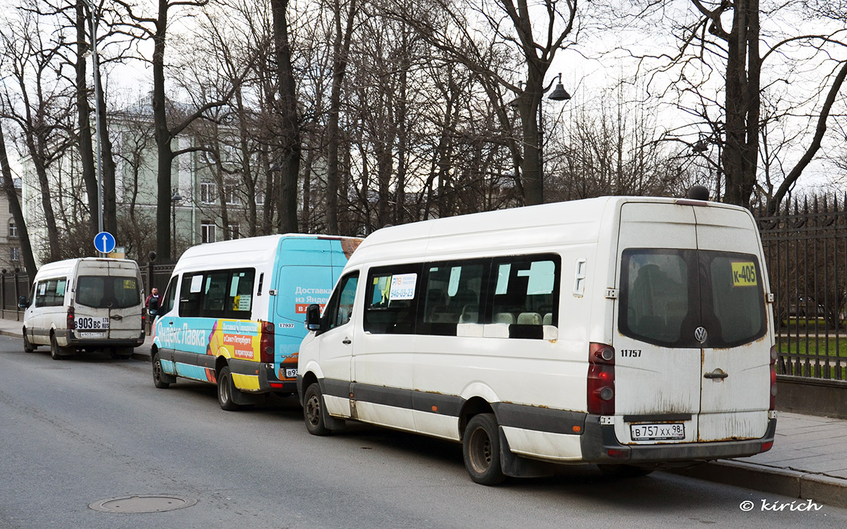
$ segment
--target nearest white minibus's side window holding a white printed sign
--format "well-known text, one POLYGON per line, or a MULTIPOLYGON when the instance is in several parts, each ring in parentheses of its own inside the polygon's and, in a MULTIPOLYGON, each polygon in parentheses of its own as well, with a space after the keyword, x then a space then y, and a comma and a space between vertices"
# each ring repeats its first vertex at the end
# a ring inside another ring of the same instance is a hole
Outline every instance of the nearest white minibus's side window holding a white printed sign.
POLYGON ((420 265, 372 269, 365 292, 364 330, 374 334, 412 334, 420 265))

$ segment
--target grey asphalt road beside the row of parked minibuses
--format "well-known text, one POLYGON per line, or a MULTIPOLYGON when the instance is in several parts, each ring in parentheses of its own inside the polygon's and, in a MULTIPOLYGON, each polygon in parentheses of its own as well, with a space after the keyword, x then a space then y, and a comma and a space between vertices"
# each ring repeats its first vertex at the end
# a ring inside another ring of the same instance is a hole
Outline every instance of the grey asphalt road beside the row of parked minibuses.
POLYGON ((312 437, 293 398, 225 412, 214 387, 156 389, 138 360, 57 361, 9 337, 0 358, 3 528, 847 526, 847 510, 791 511, 805 504, 663 472, 616 480, 568 467, 482 487, 456 444, 361 425, 312 437), (89 508, 135 495, 197 503, 89 508))

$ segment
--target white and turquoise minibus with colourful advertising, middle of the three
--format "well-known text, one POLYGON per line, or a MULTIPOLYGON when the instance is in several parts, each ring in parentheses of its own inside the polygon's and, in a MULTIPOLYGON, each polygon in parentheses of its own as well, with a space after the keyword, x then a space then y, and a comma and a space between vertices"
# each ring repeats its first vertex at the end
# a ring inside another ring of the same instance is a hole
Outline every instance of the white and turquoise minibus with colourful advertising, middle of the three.
POLYGON ((307 307, 326 302, 359 242, 285 234, 185 250, 153 325, 153 384, 215 384, 228 411, 295 393, 307 307))

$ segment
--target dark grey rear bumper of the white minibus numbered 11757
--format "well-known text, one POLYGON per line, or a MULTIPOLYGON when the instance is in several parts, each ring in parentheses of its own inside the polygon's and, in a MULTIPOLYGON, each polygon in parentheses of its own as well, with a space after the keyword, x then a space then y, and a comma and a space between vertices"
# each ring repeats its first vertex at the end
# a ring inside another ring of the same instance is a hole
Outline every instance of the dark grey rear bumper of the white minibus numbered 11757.
POLYGON ((583 459, 589 463, 631 465, 746 457, 763 452, 762 445, 772 443, 777 432, 777 420, 770 419, 764 437, 759 439, 629 445, 618 443, 615 427, 601 426, 599 419, 598 415, 588 415, 585 418, 585 430, 580 437, 583 459), (611 455, 610 451, 615 455, 611 455))

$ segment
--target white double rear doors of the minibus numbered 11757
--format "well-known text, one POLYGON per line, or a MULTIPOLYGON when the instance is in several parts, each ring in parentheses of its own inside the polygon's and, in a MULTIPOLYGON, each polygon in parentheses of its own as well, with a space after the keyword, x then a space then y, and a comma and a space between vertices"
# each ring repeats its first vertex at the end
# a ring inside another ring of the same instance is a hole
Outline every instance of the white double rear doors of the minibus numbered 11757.
POLYGON ((770 344, 759 248, 740 210, 623 205, 614 343, 621 442, 765 434, 770 344))

